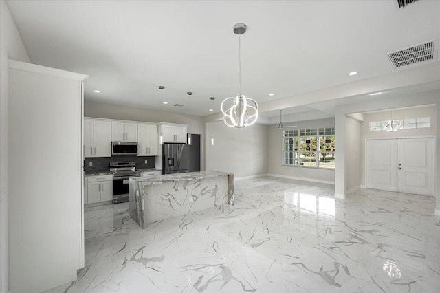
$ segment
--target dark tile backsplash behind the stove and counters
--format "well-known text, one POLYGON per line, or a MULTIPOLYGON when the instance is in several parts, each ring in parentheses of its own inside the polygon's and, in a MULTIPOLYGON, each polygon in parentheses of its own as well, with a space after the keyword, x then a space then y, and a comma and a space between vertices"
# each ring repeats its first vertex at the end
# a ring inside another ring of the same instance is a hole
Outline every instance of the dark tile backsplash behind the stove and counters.
POLYGON ((109 171, 110 162, 136 162, 136 169, 154 168, 154 156, 138 157, 137 155, 113 155, 112 157, 103 158, 85 158, 84 172, 95 173, 109 171), (148 164, 145 164, 145 160, 148 164), (92 163, 90 166, 89 163, 92 163))

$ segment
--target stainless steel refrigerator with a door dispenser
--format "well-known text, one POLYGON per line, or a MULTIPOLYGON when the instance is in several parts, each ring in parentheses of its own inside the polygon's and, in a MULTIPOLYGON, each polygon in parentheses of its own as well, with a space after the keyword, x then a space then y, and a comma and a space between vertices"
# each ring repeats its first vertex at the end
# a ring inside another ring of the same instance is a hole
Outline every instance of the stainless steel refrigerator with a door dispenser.
POLYGON ((189 168, 189 152, 186 144, 162 145, 162 173, 186 173, 189 168))

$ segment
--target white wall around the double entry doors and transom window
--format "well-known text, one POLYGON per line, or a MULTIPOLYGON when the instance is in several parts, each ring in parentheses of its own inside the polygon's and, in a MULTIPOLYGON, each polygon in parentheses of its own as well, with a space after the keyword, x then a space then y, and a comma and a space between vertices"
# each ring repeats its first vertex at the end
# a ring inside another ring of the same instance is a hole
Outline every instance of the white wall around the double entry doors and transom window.
POLYGON ((435 136, 437 131, 437 117, 435 115, 434 105, 424 105, 416 108, 401 108, 395 109, 393 111, 386 110, 375 113, 365 113, 364 122, 361 124, 361 148, 360 148, 360 180, 361 184, 365 184, 365 139, 366 138, 407 138, 416 136, 435 136), (419 129, 400 129, 395 132, 388 131, 370 131, 369 122, 375 121, 386 121, 391 118, 395 120, 407 119, 407 118, 418 118, 418 117, 430 117, 430 127, 429 128, 419 128, 419 129))

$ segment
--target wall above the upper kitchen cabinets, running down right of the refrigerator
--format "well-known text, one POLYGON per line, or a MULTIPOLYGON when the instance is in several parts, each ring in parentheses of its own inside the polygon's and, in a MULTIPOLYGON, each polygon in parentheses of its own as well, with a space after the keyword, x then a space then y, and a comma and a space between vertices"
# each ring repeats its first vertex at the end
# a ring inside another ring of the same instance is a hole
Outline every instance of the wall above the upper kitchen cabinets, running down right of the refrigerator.
MULTIPOLYGON (((157 111, 140 107, 128 107, 121 105, 112 105, 103 102, 85 101, 84 116, 94 118, 107 118, 119 120, 132 120, 142 122, 169 122, 188 124, 188 133, 200 134, 200 164, 201 170, 205 170, 205 123, 202 116, 192 116, 168 111, 157 111)), ((162 150, 159 149, 159 155, 162 150)), ((162 159, 156 157, 156 167, 162 168, 162 159)))

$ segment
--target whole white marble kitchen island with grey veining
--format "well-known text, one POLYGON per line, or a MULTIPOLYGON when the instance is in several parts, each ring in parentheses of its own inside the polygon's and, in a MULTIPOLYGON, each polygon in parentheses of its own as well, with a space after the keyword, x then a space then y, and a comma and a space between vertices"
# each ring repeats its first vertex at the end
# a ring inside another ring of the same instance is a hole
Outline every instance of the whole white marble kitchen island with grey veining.
POLYGON ((155 221, 231 204, 234 174, 201 171, 130 178, 130 217, 141 228, 155 221))

